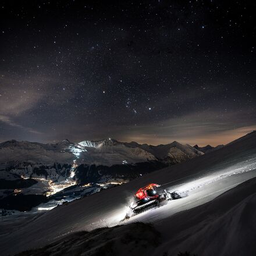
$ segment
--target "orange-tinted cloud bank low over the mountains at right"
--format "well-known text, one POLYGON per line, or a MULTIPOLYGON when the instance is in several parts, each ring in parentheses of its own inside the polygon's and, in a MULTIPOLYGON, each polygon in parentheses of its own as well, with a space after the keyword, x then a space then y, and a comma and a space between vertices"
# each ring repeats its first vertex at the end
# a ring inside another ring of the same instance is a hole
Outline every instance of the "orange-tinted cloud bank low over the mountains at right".
POLYGON ((174 140, 192 145, 227 144, 256 130, 255 120, 251 118, 251 122, 248 122, 250 116, 253 116, 253 112, 194 112, 157 125, 123 127, 126 133, 122 138, 152 145, 167 144, 174 140))

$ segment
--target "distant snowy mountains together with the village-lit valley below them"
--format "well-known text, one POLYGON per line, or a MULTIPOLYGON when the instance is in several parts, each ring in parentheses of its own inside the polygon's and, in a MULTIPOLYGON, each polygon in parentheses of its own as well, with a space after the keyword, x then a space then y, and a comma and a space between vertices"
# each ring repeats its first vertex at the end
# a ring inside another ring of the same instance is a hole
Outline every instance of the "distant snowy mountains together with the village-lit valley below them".
POLYGON ((110 138, 57 144, 6 141, 0 144, 0 213, 48 211, 202 154, 176 141, 159 146, 110 138))

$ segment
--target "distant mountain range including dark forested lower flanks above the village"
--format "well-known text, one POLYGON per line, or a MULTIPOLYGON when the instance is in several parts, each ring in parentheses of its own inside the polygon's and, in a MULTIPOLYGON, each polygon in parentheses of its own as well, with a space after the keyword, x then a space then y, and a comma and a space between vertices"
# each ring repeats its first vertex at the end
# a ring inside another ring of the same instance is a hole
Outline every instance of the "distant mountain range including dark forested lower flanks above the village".
POLYGON ((0 144, 0 179, 44 178, 63 182, 70 176, 79 183, 141 174, 204 154, 177 141, 166 145, 122 143, 111 138, 56 144, 10 140, 0 144), (102 177, 103 176, 103 177, 102 177))

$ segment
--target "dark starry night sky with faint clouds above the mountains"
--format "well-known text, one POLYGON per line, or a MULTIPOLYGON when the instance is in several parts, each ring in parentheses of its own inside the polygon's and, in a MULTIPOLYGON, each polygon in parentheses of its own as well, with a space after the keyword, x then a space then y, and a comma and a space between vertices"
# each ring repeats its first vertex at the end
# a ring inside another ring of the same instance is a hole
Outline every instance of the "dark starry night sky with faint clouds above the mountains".
POLYGON ((0 141, 225 144, 256 129, 255 1, 1 1, 0 141))

